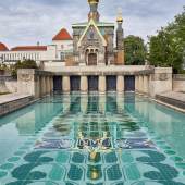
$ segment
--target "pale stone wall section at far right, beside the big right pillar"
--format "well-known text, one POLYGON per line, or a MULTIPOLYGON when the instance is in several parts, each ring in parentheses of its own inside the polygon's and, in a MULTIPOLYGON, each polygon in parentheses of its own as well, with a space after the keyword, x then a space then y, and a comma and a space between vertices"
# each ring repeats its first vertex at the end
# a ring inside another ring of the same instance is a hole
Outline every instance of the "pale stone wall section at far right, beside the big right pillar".
POLYGON ((185 92, 185 74, 173 75, 173 91, 185 92))

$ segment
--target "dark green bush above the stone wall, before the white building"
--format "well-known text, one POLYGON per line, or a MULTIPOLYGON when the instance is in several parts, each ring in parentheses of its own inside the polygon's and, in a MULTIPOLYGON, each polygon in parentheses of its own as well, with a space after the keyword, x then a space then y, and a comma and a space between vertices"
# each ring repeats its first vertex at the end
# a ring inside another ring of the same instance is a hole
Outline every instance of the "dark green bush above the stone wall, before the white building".
POLYGON ((34 60, 18 61, 12 66, 12 76, 17 76, 18 69, 38 69, 34 60))

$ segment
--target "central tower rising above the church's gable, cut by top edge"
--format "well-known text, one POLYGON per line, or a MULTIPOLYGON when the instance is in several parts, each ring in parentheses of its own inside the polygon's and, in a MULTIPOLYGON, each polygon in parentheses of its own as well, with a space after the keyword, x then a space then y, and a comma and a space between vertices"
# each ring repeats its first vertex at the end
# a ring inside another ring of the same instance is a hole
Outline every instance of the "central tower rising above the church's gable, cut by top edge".
POLYGON ((95 22, 99 22, 99 17, 100 17, 99 12, 98 12, 99 0, 88 0, 88 3, 90 5, 88 21, 90 21, 92 18, 95 22))

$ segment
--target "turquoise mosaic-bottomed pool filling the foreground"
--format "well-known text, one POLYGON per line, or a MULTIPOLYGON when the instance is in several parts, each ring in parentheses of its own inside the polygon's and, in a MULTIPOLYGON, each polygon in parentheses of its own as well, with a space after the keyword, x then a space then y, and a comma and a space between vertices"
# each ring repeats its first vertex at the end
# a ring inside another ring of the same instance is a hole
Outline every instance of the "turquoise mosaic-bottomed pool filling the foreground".
POLYGON ((134 94, 53 95, 0 118, 2 185, 183 185, 185 114, 134 94))

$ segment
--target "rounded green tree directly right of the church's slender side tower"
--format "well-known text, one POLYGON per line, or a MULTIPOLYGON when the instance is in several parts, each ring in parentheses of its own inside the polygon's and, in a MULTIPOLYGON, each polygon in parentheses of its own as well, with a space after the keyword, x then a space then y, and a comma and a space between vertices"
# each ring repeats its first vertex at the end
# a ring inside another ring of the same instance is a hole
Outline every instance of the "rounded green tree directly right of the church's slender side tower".
POLYGON ((147 49, 144 40, 140 37, 127 36, 124 39, 125 48, 125 63, 127 65, 141 65, 145 64, 147 49))

